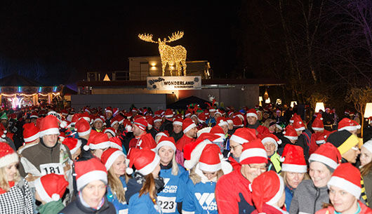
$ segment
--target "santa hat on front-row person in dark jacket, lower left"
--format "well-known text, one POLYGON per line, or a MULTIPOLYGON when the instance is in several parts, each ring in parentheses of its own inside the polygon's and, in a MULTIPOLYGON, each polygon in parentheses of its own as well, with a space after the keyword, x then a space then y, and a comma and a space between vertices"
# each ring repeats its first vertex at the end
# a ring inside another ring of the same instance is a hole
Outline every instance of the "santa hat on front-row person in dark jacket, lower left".
POLYGON ((75 163, 75 173, 77 174, 77 189, 79 191, 95 180, 101 180, 107 185, 107 170, 97 158, 77 161, 75 163))

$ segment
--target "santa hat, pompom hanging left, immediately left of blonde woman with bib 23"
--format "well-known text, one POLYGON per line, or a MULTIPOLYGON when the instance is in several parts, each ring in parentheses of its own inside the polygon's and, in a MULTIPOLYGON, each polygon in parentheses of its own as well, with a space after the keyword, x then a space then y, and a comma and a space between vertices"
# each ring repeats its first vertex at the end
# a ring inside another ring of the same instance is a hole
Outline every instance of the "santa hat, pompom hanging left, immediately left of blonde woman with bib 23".
POLYGON ((159 165, 160 157, 150 149, 131 149, 129 166, 126 173, 133 173, 133 165, 142 175, 149 175, 159 165))

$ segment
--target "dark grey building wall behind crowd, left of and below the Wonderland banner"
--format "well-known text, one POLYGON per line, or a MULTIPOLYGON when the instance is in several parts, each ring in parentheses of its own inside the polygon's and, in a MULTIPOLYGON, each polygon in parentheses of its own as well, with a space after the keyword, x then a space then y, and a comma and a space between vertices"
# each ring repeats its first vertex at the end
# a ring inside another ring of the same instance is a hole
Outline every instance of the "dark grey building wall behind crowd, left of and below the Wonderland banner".
MULTIPOLYGON (((90 107, 118 107, 129 109, 132 104, 135 107, 151 107, 153 111, 166 109, 166 101, 174 95, 166 94, 95 94, 95 95, 71 95, 71 106, 74 109, 90 107)), ((174 100, 174 99, 173 99, 174 100)), ((171 102, 171 101, 168 101, 171 102)))

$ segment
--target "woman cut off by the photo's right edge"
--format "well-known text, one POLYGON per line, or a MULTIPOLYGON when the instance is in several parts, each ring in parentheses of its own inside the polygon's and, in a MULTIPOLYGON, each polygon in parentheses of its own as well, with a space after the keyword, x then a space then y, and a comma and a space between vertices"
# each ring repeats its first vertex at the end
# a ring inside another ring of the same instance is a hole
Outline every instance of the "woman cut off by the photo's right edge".
MULTIPOLYGON (((372 199, 372 140, 368 140, 361 146, 360 153, 361 177, 364 180, 367 199, 372 199)), ((368 206, 371 208, 372 203, 368 202, 368 206)))

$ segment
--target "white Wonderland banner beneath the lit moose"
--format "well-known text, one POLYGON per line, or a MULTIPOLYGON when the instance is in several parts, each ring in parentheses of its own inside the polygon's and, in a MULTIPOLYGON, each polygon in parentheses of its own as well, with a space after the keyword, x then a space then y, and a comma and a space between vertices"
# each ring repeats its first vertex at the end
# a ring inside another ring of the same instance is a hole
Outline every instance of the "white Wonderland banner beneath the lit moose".
POLYGON ((201 89, 201 76, 147 76, 147 90, 201 89))

